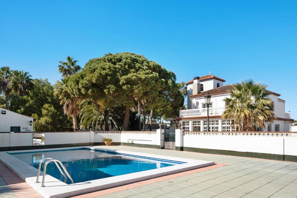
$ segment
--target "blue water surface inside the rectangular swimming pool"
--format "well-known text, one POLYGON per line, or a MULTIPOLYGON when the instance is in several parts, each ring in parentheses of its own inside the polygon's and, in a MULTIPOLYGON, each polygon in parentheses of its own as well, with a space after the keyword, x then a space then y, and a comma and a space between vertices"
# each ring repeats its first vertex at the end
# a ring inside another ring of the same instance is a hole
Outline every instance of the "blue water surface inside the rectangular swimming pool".
MULTIPOLYGON (((46 157, 58 159, 63 163, 74 183, 184 163, 126 154, 116 154, 105 151, 95 151, 88 148, 10 154, 37 169, 39 162, 46 157)), ((44 163, 42 163, 42 171, 43 166, 44 163)), ((53 162, 48 164, 46 173, 64 182, 64 178, 53 162)), ((70 183, 69 179, 67 179, 67 183, 70 183)))

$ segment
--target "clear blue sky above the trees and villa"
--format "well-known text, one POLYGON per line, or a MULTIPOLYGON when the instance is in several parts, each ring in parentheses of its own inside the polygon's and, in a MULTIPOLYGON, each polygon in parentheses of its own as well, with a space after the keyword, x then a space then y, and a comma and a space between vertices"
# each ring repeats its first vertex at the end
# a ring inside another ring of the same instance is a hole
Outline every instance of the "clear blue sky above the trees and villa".
POLYGON ((297 1, 285 0, 2 0, 0 66, 54 83, 68 55, 84 66, 108 52, 134 52, 175 72, 177 81, 211 70, 225 84, 267 83, 297 119, 296 10, 297 1))

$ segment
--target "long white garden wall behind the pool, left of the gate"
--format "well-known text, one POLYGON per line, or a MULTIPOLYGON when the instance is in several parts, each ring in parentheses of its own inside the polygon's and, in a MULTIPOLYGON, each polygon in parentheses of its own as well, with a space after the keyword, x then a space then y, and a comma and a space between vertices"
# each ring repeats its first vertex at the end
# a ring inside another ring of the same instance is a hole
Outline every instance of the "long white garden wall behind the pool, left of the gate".
POLYGON ((33 146, 33 133, 0 132, 0 151, 105 145, 102 142, 103 138, 111 138, 112 145, 160 148, 160 130, 157 132, 38 132, 45 134, 44 146, 33 146))

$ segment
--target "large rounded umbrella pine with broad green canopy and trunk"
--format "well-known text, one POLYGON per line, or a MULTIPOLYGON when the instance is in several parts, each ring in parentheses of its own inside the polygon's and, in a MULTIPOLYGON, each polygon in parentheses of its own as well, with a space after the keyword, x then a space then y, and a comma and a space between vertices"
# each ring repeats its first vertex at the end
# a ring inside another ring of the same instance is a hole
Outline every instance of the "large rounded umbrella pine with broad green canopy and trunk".
POLYGON ((166 69, 144 56, 109 53, 89 60, 82 72, 71 77, 69 91, 76 96, 107 98, 124 105, 123 130, 128 130, 130 109, 142 100, 156 97, 165 87, 165 79, 159 73, 166 75, 166 69))

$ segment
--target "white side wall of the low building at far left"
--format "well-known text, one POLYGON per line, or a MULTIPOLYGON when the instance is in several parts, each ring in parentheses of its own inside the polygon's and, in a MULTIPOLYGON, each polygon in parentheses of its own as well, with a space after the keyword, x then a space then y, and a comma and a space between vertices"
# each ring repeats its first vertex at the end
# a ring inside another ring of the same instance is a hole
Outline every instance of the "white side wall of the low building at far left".
POLYGON ((20 126, 21 132, 33 131, 33 118, 0 108, 0 132, 10 132, 11 126, 20 126), (6 114, 1 112, 6 111, 6 114))

